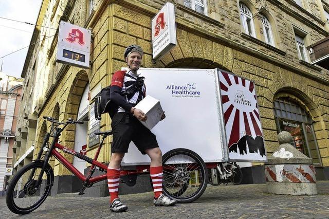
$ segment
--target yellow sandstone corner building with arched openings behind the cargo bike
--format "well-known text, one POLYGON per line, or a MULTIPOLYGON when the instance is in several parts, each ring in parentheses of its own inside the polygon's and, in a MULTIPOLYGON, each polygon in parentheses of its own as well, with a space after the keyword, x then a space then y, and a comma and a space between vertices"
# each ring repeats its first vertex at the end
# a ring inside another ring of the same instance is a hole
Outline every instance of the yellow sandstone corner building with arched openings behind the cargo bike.
MULTIPOLYGON (((138 44, 145 53, 142 67, 218 67, 253 80, 267 153, 277 149, 277 134, 288 131, 294 137, 291 143, 313 159, 317 178, 328 179, 329 71, 310 64, 306 49, 327 36, 328 11, 328 0, 43 1, 37 24, 44 27, 34 30, 22 72, 26 80, 14 172, 36 156, 48 127, 43 116, 86 121, 83 127, 68 127, 60 143, 75 151, 86 144, 87 156, 94 157, 88 107, 110 84, 111 73, 126 66, 125 47, 138 44), (151 20, 166 2, 175 6, 177 45, 153 60, 151 20), (92 30, 88 69, 56 63, 60 21, 92 30), (87 139, 80 142, 80 136, 87 139), (17 159, 18 149, 26 153, 30 144, 34 152, 17 159)), ((111 129, 110 124, 102 116, 100 130, 111 129)), ((109 162, 111 142, 111 137, 106 139, 99 161, 109 162)), ((88 167, 64 156, 82 172, 88 167)), ((51 165, 56 175, 53 194, 81 188, 61 163, 51 165)), ((243 167, 246 183, 265 182, 263 163, 243 167)), ((106 186, 96 185, 89 195, 107 195, 106 186)))

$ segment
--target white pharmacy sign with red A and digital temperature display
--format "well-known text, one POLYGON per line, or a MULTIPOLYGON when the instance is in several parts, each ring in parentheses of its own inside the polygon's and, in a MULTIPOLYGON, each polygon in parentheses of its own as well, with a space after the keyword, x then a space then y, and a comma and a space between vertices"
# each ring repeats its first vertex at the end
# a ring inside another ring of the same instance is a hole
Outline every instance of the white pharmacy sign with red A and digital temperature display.
POLYGON ((56 61, 88 68, 91 34, 90 30, 61 21, 56 61))

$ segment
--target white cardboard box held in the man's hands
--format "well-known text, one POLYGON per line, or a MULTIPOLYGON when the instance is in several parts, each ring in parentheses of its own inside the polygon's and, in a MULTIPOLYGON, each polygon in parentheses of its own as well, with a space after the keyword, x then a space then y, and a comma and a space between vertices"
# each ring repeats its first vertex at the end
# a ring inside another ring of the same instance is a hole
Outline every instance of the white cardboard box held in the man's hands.
POLYGON ((145 122, 140 122, 150 130, 160 121, 163 114, 160 101, 150 95, 142 99, 135 108, 141 109, 147 115, 148 119, 145 122))

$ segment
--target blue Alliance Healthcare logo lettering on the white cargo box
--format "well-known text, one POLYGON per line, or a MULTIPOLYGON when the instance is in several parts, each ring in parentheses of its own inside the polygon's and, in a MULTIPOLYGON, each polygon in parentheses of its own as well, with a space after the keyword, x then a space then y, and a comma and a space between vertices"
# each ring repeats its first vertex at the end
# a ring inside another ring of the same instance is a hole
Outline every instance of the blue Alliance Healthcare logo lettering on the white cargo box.
POLYGON ((167 90, 171 91, 172 97, 200 97, 201 92, 196 88, 196 83, 191 83, 183 86, 167 85, 167 90))

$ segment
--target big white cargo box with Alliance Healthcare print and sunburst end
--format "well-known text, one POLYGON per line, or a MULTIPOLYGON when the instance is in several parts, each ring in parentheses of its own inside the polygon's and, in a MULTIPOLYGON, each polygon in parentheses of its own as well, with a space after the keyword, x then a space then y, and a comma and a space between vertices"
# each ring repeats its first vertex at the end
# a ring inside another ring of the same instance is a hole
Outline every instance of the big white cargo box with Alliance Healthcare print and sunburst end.
MULTIPOLYGON (((162 154, 186 148, 205 162, 266 161, 254 82, 220 69, 141 68, 166 118, 152 132, 162 154)), ((133 142, 122 165, 150 162, 133 142)))

